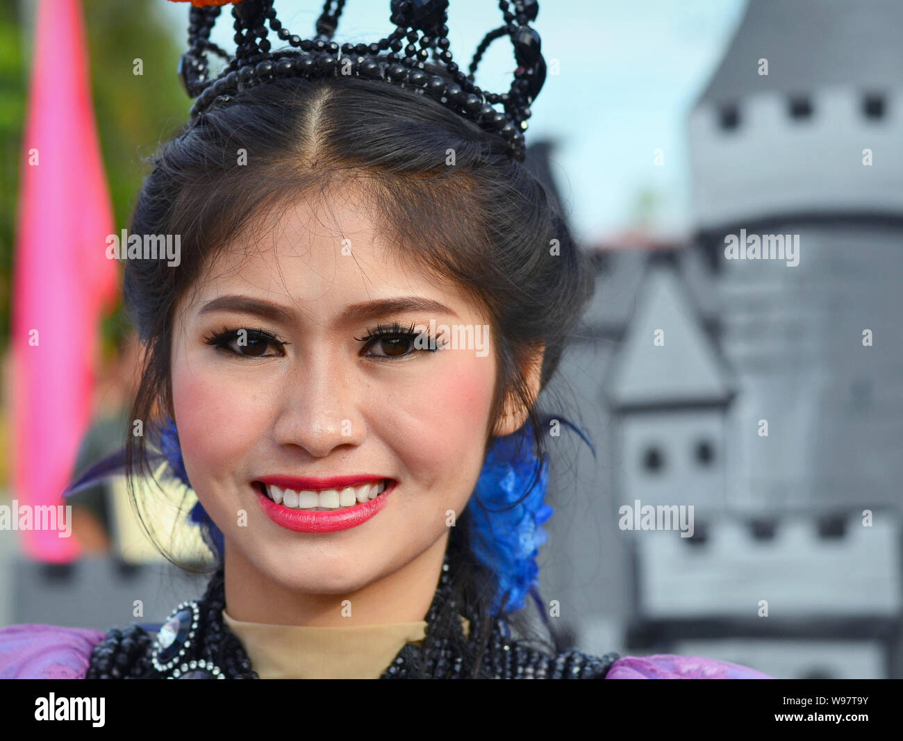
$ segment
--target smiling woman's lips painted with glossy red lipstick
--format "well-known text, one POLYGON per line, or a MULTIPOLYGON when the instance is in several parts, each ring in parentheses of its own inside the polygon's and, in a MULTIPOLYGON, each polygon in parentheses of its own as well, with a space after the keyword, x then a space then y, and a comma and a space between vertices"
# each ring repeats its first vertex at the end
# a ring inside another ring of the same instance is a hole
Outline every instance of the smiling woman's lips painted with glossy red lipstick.
MULTIPOLYGON (((343 486, 355 486, 365 484, 368 481, 382 481, 383 478, 372 476, 361 477, 330 477, 330 478, 296 478, 296 477, 263 477, 258 478, 266 484, 284 486, 295 491, 304 489, 316 490, 327 488, 342 488, 343 486), (280 484, 280 481, 286 483, 280 484), (325 484, 323 482, 326 482, 325 484), (338 483, 333 483, 338 482, 338 483)), ((277 505, 259 489, 256 489, 257 502, 265 514, 277 525, 295 533, 336 533, 340 530, 349 530, 359 524, 366 523, 374 517, 385 505, 386 496, 396 486, 396 481, 389 480, 386 491, 379 496, 361 502, 350 507, 341 507, 333 512, 319 510, 293 509, 283 505, 277 505)), ((255 487, 256 488, 256 487, 255 487)))

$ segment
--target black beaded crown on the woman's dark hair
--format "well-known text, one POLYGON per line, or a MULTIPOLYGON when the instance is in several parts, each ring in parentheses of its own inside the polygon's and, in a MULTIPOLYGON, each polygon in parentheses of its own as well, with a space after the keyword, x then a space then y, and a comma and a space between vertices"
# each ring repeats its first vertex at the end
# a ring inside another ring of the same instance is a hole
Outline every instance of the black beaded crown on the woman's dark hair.
POLYGON ((191 107, 191 119, 213 105, 228 105, 230 94, 273 79, 355 75, 383 79, 433 97, 486 131, 503 137, 508 154, 524 161, 526 119, 545 82, 539 34, 528 25, 539 12, 537 0, 499 0, 505 23, 479 43, 469 74, 459 69, 449 51, 449 29, 445 25, 448 0, 391 0, 390 20, 396 24, 395 31, 377 42, 341 45, 332 41, 332 34, 345 0, 326 0, 312 39, 302 39, 285 29, 276 18, 273 2, 238 0, 232 6, 237 44, 234 57, 209 40, 220 5, 191 6, 190 48, 182 54, 179 65, 185 89, 197 98, 191 107), (267 25, 280 40, 288 42, 288 48, 270 51, 267 25), (508 36, 514 46, 517 69, 507 93, 489 93, 474 84, 473 76, 489 44, 502 36, 508 36), (209 78, 210 51, 228 60, 216 79, 209 78), (493 107, 497 104, 504 112, 493 107))

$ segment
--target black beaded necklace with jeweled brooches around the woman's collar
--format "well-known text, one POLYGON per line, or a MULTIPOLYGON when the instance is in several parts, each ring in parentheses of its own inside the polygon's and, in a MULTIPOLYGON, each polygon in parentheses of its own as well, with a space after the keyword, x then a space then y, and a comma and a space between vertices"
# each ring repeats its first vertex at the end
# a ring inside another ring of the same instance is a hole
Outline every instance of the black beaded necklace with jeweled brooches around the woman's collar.
MULTIPOLYGON (((448 554, 442 563, 439 586, 426 616, 423 647, 408 643, 398 652, 380 679, 466 679, 472 668, 454 650, 466 641, 461 621, 440 628, 443 607, 457 616, 452 600, 448 554), (458 635, 454 632, 458 631, 458 635)), ((259 679, 237 636, 223 623, 225 579, 220 568, 199 601, 183 602, 156 632, 141 625, 113 628, 91 653, 86 679, 259 679)), ((448 611, 445 611, 448 612, 448 611)), ((470 619, 470 635, 479 634, 479 618, 470 619)), ((528 648, 509 637, 504 620, 493 625, 484 654, 482 676, 494 679, 602 679, 617 653, 602 657, 570 649, 557 656, 528 648)))

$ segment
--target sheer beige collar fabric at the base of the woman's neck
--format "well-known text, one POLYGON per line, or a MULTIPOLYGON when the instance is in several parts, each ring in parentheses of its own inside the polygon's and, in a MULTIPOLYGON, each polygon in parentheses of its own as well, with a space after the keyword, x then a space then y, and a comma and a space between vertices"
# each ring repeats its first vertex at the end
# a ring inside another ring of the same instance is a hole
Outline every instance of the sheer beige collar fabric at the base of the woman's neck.
MULTIPOLYGON (((223 621, 245 647, 262 680, 377 680, 407 643, 420 643, 426 621, 322 627, 223 621)), ((467 635, 470 623, 461 617, 467 635)))

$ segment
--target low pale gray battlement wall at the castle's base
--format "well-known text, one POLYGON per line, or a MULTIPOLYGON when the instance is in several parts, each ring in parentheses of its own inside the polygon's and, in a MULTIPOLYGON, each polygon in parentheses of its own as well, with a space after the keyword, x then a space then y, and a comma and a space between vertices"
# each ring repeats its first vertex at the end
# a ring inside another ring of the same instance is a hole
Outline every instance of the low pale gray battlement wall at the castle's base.
MULTIPOLYGON (((699 511, 697 520, 702 521, 699 511)), ((699 522, 696 523, 697 533, 699 522)), ((770 538, 751 521, 721 516, 704 525, 703 542, 676 532, 629 533, 647 618, 731 616, 894 616, 903 600, 900 523, 888 511, 842 518, 842 532, 819 533, 815 516, 781 515, 770 538), (760 534, 760 533, 759 533, 760 534)), ((761 617, 767 620, 768 617, 761 617)))

